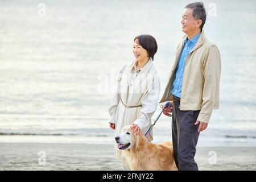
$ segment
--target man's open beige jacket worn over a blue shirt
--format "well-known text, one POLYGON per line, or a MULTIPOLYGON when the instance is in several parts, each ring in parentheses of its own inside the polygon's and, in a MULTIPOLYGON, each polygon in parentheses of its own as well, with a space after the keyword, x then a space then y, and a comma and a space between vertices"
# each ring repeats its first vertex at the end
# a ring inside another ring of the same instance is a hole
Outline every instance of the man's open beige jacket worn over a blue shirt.
MULTIPOLYGON (((176 58, 168 84, 160 102, 173 101, 171 90, 175 70, 186 36, 176 50, 176 58)), ((217 46, 201 32, 195 47, 189 53, 183 75, 180 110, 201 110, 197 121, 209 123, 213 109, 218 109, 220 98, 221 56, 217 46)))

